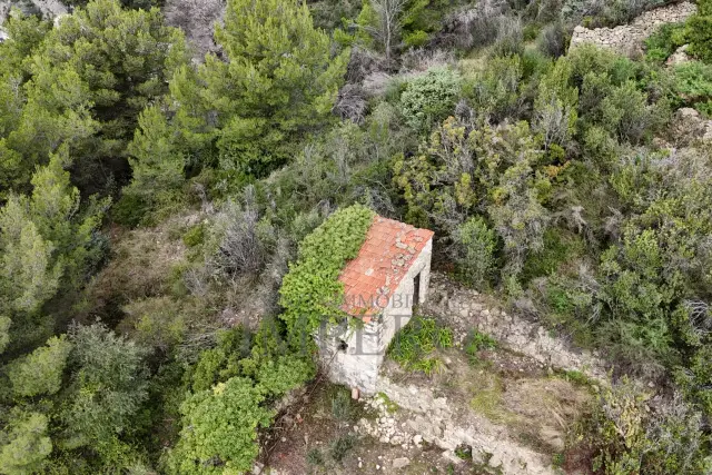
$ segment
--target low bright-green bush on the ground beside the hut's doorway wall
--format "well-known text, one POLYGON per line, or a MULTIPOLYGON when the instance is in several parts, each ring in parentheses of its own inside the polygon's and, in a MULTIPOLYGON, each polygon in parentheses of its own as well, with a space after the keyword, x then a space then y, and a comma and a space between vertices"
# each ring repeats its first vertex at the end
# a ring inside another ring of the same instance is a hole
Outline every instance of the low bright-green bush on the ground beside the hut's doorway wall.
POLYGON ((388 346, 388 356, 406 369, 431 375, 442 365, 435 350, 451 346, 449 328, 441 327, 434 318, 415 316, 396 333, 388 346))

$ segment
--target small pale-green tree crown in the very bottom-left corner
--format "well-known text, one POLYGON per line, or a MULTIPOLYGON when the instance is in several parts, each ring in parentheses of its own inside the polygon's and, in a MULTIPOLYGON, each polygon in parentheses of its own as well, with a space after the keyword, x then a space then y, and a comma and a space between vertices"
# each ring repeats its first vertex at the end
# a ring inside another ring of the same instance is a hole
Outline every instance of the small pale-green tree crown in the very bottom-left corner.
POLYGON ((52 452, 52 441, 47 435, 47 416, 13 410, 10 418, 10 424, 0 433, 0 473, 26 475, 42 472, 52 452))

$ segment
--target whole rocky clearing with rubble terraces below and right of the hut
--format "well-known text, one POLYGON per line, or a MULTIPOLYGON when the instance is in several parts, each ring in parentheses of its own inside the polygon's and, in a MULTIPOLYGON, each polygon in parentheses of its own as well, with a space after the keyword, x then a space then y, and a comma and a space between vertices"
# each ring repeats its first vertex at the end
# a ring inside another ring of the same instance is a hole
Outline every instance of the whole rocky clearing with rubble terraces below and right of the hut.
POLYGON ((586 473, 565 439, 605 375, 601 362, 443 275, 431 285, 423 311, 455 335, 455 347, 438 350, 441 370, 426 376, 387 360, 378 393, 354 402, 348 420, 334 403, 348 389, 309 389, 271 435, 263 473, 586 473), (498 346, 467 354, 472 330, 498 346), (336 462, 343 439, 349 448, 336 462))

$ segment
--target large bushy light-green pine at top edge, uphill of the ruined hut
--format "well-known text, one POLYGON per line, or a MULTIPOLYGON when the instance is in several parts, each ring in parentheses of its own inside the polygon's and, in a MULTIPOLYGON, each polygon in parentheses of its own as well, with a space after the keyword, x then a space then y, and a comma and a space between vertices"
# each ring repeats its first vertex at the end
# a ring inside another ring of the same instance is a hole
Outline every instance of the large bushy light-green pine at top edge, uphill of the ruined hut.
POLYGON ((136 185, 129 194, 155 199, 145 185, 158 184, 160 192, 184 166, 217 162, 230 179, 265 175, 327 122, 348 52, 333 56, 306 4, 230 0, 216 39, 226 60, 210 55, 174 76, 170 127, 158 109, 144 115, 130 150, 136 185))

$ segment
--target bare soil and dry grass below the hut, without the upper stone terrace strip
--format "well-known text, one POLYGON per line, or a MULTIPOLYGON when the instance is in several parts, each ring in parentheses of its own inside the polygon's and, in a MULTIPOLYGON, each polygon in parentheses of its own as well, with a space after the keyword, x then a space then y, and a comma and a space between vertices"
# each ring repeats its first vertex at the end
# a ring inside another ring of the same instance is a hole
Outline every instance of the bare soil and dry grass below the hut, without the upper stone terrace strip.
MULTIPOLYGON (((432 376, 403 370, 389 360, 383 375, 389 384, 403 388, 402 394, 411 392, 418 395, 414 397, 422 397, 427 393, 428 397, 444 398, 447 402, 444 413, 435 409, 431 413, 428 408, 415 410, 417 404, 423 404, 418 400, 414 400, 411 408, 388 400, 387 410, 378 413, 368 400, 362 399, 353 402, 344 419, 337 417, 334 400, 339 392, 348 394, 348 390, 320 383, 308 389, 277 423, 263 456, 264 473, 584 473, 575 468, 580 465, 576 454, 571 454, 573 458, 567 461, 564 445, 574 418, 591 397, 590 386, 567 380, 564 374, 552 374, 533 358, 503 348, 479 352, 475 357, 461 348, 452 348, 441 350, 438 357, 443 362, 442 370, 432 376), (364 420, 379 427, 386 418, 384 415, 392 424, 395 422, 396 432, 404 435, 403 444, 384 443, 377 434, 355 431, 364 420), (424 441, 412 443, 418 425, 431 423, 428 419, 445 428, 442 439, 428 439, 428 432, 424 431, 424 441), (449 443, 448 433, 456 433, 458 427, 472 431, 478 444, 464 444, 455 451, 444 448, 443 444, 449 443), (343 458, 337 461, 334 454, 339 457, 338 441, 345 439, 349 443, 345 444, 343 458), (479 442, 485 444, 485 449, 479 442), (513 453, 523 461, 518 465, 504 461, 513 453), (407 458, 407 465, 394 468, 394 461, 403 457, 407 458)), ((385 395, 377 397, 388 399, 385 395)))

